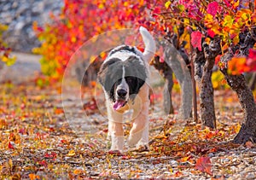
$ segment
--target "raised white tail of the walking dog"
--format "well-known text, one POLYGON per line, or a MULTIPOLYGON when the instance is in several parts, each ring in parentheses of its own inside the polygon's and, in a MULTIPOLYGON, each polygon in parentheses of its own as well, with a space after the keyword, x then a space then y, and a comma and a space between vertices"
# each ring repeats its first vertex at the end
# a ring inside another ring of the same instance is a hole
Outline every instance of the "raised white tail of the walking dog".
POLYGON ((145 44, 145 49, 143 52, 144 59, 146 61, 150 61, 154 57, 154 53, 156 50, 154 38, 143 26, 140 26, 140 33, 143 37, 143 42, 145 44))

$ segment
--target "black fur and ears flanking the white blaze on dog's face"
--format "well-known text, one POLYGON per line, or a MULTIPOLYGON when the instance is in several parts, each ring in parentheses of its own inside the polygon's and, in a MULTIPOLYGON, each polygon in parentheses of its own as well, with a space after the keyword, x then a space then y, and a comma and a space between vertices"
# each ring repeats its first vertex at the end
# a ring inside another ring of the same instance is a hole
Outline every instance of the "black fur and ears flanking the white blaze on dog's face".
MULTIPOLYGON (((131 56, 125 61, 113 58, 102 65, 98 73, 98 80, 113 102, 115 102, 116 87, 122 80, 123 67, 125 67, 125 81, 129 85, 129 95, 137 95, 147 78, 146 68, 141 62, 137 56, 131 56)), ((134 99, 135 96, 132 96, 131 99, 134 99)))

